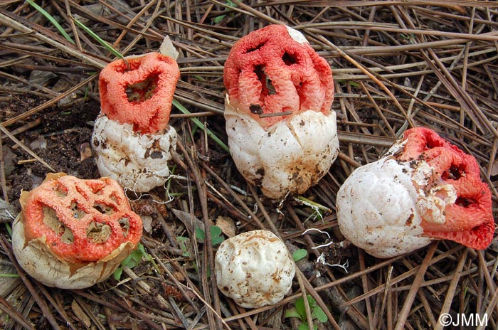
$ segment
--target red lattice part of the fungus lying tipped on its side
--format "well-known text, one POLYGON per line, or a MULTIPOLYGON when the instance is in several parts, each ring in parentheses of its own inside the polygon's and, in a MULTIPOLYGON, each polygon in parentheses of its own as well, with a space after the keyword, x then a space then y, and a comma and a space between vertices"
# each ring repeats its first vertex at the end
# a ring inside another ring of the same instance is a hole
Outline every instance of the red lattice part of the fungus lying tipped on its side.
MULTIPOLYGON (((474 156, 465 154, 437 133, 426 128, 408 129, 405 147, 395 154, 400 161, 423 160, 435 169, 433 186, 450 184, 457 193, 455 203, 445 208, 445 223, 423 219, 425 235, 454 240, 470 248, 487 248, 494 235, 491 192, 480 179, 474 156)), ((428 186, 425 189, 433 188, 428 186)))

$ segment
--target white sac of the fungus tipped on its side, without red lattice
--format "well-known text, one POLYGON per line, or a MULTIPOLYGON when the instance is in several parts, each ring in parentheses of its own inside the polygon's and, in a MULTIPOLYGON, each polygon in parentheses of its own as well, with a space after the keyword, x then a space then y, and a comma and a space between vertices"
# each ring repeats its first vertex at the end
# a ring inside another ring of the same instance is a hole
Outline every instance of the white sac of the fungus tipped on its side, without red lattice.
POLYGON ((345 238, 376 257, 393 257, 428 245, 422 218, 444 223, 456 191, 435 181, 426 161, 398 161, 392 154, 356 169, 337 193, 337 220, 345 238))

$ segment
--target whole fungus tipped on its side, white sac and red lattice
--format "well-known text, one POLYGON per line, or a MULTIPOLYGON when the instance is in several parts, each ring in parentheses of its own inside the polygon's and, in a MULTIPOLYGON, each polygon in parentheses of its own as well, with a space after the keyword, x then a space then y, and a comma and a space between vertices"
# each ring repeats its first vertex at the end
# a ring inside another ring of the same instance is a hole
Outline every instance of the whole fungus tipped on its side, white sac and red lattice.
POLYGON ((376 257, 431 240, 482 250, 494 235, 491 192, 476 159, 430 129, 408 129, 378 161, 356 169, 337 194, 341 233, 376 257))

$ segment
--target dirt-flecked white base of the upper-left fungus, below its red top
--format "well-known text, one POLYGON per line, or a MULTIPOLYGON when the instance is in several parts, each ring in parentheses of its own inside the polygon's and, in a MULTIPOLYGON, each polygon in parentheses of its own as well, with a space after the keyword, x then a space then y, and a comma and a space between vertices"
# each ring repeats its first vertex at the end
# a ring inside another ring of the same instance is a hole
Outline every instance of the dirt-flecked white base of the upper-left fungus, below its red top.
POLYGON ((131 124, 120 124, 100 115, 95 121, 92 147, 101 176, 115 179, 132 191, 147 192, 169 177, 170 148, 176 149, 176 131, 140 134, 131 124))

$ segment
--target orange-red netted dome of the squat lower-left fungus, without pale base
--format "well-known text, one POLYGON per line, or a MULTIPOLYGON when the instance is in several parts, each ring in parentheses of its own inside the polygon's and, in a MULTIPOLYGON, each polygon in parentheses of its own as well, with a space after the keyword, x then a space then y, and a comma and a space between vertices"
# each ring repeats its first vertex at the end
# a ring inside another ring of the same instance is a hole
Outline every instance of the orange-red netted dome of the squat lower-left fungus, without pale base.
POLYGON ((23 208, 26 242, 46 244, 68 262, 102 260, 122 243, 139 243, 142 219, 114 180, 61 176, 34 188, 23 208))

